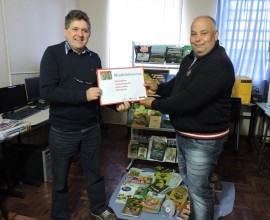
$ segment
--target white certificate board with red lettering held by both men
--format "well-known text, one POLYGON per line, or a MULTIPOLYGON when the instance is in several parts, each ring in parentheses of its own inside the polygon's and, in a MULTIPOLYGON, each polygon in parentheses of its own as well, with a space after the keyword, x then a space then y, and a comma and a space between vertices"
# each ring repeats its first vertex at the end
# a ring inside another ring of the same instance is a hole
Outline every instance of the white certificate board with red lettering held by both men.
POLYGON ((102 90, 100 105, 135 102, 147 97, 143 67, 98 69, 97 79, 102 90))

